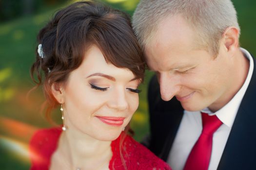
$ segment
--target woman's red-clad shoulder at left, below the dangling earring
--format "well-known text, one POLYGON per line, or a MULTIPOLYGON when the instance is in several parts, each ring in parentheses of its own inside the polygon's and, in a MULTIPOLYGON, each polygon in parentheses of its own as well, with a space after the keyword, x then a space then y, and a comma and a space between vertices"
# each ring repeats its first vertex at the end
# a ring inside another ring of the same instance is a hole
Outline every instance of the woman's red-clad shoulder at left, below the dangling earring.
MULTIPOLYGON (((29 153, 31 158, 31 170, 37 170, 36 167, 47 167, 51 155, 57 148, 61 128, 39 129, 32 136, 29 143, 29 153)), ((40 169, 40 168, 39 168, 40 169)), ((40 169, 41 170, 41 169, 40 169)))

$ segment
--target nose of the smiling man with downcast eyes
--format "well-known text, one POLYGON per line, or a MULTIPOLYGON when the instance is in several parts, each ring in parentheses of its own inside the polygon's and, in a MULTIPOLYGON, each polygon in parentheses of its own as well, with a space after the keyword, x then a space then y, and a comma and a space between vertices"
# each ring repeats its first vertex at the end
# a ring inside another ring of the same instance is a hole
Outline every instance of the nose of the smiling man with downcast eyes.
POLYGON ((178 80, 175 75, 168 73, 158 75, 161 98, 164 101, 170 101, 179 91, 178 80))

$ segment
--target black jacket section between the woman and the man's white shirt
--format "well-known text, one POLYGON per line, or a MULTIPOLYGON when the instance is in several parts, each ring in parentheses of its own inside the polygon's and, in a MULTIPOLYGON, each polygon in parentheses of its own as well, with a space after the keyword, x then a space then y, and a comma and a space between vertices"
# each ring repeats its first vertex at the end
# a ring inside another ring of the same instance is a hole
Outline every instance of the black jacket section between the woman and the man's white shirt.
POLYGON ((149 149, 166 161, 183 116, 183 108, 176 98, 168 102, 161 99, 156 76, 152 78, 149 87, 148 101, 151 114, 149 149))

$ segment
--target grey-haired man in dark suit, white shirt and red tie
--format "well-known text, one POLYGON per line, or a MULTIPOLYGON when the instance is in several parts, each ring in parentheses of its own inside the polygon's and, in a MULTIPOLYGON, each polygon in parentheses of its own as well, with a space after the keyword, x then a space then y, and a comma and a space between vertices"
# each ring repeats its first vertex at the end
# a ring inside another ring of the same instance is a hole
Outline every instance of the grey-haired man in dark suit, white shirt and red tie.
POLYGON ((231 0, 141 0, 133 27, 157 75, 149 149, 174 170, 256 170, 255 60, 231 0))

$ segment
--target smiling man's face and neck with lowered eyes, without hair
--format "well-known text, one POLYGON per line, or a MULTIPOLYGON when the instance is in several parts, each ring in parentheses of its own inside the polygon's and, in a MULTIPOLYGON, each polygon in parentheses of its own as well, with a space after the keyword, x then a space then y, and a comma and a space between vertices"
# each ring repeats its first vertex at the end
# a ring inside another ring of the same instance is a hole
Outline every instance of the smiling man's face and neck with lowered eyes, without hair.
POLYGON ((182 17, 169 17, 145 47, 147 64, 157 73, 164 101, 175 96, 185 110, 217 111, 229 93, 232 62, 222 41, 217 58, 196 42, 195 32, 182 17))

